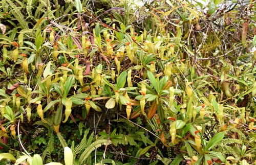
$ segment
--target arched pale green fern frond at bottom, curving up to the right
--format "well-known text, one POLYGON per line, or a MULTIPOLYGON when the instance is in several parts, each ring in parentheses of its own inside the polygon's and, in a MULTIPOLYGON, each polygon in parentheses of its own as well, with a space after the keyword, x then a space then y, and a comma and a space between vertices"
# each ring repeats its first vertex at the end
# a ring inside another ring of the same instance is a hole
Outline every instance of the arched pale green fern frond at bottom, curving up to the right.
MULTIPOLYGON (((99 148, 102 145, 106 145, 106 143, 108 142, 107 139, 100 139, 100 140, 96 140, 95 142, 93 142, 90 146, 88 146, 83 153, 81 154, 80 158, 79 158, 79 163, 83 164, 83 162, 88 158, 88 156, 96 149, 99 148)), ((108 143, 111 143, 111 141, 109 140, 108 143)))

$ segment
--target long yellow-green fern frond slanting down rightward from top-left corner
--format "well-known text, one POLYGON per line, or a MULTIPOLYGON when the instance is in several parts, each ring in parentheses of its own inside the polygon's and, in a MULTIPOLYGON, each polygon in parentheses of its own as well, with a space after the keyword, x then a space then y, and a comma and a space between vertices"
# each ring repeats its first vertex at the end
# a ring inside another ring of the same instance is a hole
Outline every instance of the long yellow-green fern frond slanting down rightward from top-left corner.
POLYGON ((22 12, 20 12, 19 8, 11 1, 11 0, 6 0, 6 2, 9 3, 9 5, 12 7, 13 10, 11 10, 11 13, 15 16, 15 18, 18 20, 20 25, 24 29, 29 29, 28 22, 26 21, 24 15, 22 12))

